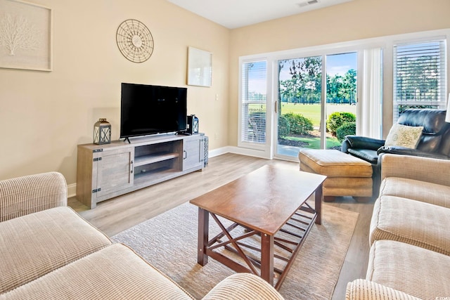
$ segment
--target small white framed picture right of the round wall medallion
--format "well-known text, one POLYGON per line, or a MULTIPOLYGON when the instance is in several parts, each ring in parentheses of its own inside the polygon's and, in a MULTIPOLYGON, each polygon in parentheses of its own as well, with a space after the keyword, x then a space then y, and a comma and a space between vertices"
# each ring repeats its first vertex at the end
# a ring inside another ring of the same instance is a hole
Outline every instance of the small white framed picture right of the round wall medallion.
POLYGON ((212 53, 188 47, 188 85, 211 86, 212 53))

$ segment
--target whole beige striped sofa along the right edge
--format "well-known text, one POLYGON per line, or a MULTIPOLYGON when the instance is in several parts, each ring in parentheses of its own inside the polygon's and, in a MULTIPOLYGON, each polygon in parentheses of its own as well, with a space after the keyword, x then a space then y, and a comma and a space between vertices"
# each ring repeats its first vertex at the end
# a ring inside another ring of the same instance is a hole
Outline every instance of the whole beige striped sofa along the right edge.
POLYGON ((347 299, 450 299, 450 160, 381 159, 366 279, 347 299))

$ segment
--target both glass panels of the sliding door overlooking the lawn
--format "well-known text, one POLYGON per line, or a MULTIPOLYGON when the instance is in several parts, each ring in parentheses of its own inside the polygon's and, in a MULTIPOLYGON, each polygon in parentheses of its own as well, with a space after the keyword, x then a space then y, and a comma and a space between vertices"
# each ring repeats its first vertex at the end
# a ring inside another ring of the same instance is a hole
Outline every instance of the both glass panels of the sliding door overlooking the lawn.
POLYGON ((278 60, 277 156, 338 149, 356 132, 356 65, 356 52, 278 60))

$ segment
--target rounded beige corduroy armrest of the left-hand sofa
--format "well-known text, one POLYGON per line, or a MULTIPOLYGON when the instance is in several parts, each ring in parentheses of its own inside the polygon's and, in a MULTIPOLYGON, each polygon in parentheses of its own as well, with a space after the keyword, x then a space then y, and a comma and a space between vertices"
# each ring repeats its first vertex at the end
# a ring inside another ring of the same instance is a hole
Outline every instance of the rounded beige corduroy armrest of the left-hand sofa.
POLYGON ((0 222, 67 204, 68 185, 58 172, 0 181, 0 222))

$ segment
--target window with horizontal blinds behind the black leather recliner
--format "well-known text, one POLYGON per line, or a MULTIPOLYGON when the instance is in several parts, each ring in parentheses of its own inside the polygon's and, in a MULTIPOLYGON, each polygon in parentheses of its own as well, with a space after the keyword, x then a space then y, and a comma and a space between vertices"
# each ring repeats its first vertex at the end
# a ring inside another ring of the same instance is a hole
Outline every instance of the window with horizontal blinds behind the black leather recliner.
POLYGON ((394 45, 394 122, 406 108, 446 103, 445 40, 394 45))

